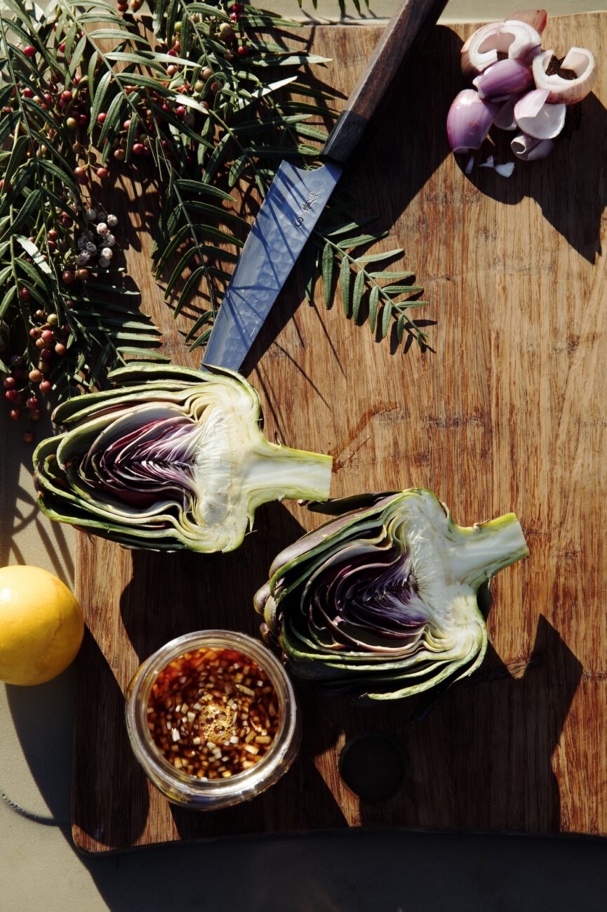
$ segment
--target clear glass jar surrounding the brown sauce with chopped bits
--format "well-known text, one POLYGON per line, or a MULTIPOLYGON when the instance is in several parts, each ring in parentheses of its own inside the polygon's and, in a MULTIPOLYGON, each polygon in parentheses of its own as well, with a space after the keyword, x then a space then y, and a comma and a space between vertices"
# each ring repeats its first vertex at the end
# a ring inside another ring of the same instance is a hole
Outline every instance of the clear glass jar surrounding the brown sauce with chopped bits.
POLYGON ((216 811, 249 801, 287 772, 299 750, 301 723, 293 685, 280 661, 258 640, 232 630, 200 630, 177 637, 139 666, 127 690, 127 730, 130 746, 149 780, 175 804, 199 811, 216 811), (262 760, 229 779, 206 782, 181 772, 168 762, 154 743, 147 720, 149 695, 159 673, 186 652, 227 648, 242 652, 262 668, 278 701, 279 723, 262 760))

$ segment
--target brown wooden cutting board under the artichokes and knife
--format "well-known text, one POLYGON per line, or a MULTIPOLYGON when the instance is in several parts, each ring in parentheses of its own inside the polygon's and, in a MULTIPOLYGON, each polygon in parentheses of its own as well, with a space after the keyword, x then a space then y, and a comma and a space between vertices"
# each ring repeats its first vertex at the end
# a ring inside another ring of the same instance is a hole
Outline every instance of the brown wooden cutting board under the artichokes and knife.
MULTIPOLYGON (((81 849, 361 825, 607 833, 606 26, 605 14, 550 21, 544 47, 561 56, 591 47, 599 81, 580 132, 509 180, 488 169, 467 177, 448 154, 459 47, 474 26, 438 27, 400 79, 350 180, 361 211, 380 213, 385 249, 401 244, 426 287, 416 315, 433 350, 377 342, 339 304, 325 310, 320 286, 316 304, 302 304, 296 270, 249 361, 268 437, 332 453, 334 496, 423 485, 458 523, 519 515, 531 556, 495 581, 480 679, 415 724, 411 701, 355 709, 299 687, 304 743, 282 782, 217 814, 173 808, 129 751, 129 679, 187 631, 255 634, 252 594, 273 556, 319 518, 268 505, 238 551, 208 557, 132 554, 80 535, 81 849), (387 801, 360 801, 340 778, 339 751, 363 731, 394 734, 403 751, 402 788, 387 801)), ((334 59, 324 78, 346 96, 380 32, 327 26, 304 36, 334 59)), ((137 182, 123 189, 129 216, 122 194, 113 208, 132 244, 129 273, 170 354, 195 365, 181 341, 187 322, 171 320, 149 277, 146 225, 158 196, 137 182)))

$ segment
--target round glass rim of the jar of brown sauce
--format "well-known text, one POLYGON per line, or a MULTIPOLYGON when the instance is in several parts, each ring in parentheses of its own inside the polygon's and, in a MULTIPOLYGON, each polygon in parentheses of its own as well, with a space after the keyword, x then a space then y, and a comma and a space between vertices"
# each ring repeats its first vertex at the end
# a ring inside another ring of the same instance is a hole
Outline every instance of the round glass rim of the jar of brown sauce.
POLYGON ((293 684, 283 665, 259 640, 238 630, 196 630, 175 637, 140 665, 131 681, 125 712, 131 748, 144 769, 149 769, 170 784, 183 796, 200 798, 224 797, 242 791, 262 789, 267 779, 283 761, 284 754, 293 741, 296 724, 296 704, 293 684), (228 779, 201 781, 188 773, 180 772, 170 764, 154 743, 147 723, 149 692, 160 672, 175 658, 195 648, 228 648, 242 652, 257 662, 268 675, 280 706, 280 723, 273 743, 262 760, 249 770, 234 773, 228 779), (289 710, 289 707, 292 707, 289 710))

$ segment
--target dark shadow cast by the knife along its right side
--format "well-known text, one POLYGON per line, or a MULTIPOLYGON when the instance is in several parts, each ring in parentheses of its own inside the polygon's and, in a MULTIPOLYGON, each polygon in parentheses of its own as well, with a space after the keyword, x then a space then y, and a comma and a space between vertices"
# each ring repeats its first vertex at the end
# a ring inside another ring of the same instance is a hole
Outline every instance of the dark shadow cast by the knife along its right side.
MULTIPOLYGON (((335 42, 338 42, 337 38, 335 42)), ((445 26, 436 26, 428 33, 426 43, 417 48, 396 77, 354 169, 343 175, 336 191, 339 202, 355 197, 357 218, 376 214, 368 226, 365 224, 365 231, 368 227, 373 233, 390 233, 409 203, 450 154, 444 125, 449 105, 458 92, 459 71, 458 65, 447 66, 446 61, 451 63, 458 59, 461 43, 461 39, 445 26), (453 76, 437 79, 437 72, 452 73, 453 76), (406 98, 405 116, 403 98, 406 98), (398 150, 402 150, 402 154, 398 150)), ((335 53, 337 50, 336 45, 335 53)), ((322 233, 326 220, 330 224, 331 219, 330 212, 324 213, 317 232, 322 233)), ((398 246, 395 237, 388 236, 380 243, 381 247, 373 245, 374 252, 382 247, 388 250, 398 246)), ((317 281, 320 274, 317 263, 319 244, 322 251, 324 242, 313 236, 304 247, 242 364, 243 374, 249 374, 264 355, 274 358, 286 356, 285 349, 276 343, 276 339, 304 301, 305 285, 311 272, 314 274, 314 306, 319 316, 322 314, 324 293, 322 281, 317 281)), ((364 252, 364 246, 356 249, 357 256, 364 252)), ((395 269, 401 268, 396 263, 391 265, 395 269)), ((420 276, 420 284, 423 284, 423 278, 423 275, 420 276)), ((333 293, 335 291, 334 288, 333 293)), ((331 295, 333 298, 334 294, 331 295)), ((368 308, 363 306, 356 322, 364 323, 366 316, 368 308)), ((322 316, 320 318, 323 322, 322 316)), ((349 318, 352 319, 352 316, 349 318)), ((390 350, 393 354, 398 347, 392 339, 390 350)), ((409 347, 410 342, 406 342, 405 350, 409 347)), ((334 349, 333 353, 336 358, 334 349)))

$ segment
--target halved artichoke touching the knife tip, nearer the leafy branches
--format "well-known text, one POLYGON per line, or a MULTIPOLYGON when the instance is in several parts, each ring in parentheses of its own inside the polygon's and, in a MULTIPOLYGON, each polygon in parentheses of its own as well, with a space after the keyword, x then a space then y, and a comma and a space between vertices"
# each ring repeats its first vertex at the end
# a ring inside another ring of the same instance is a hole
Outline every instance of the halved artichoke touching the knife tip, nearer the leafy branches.
POLYGON ((221 368, 137 365, 68 399, 34 453, 38 504, 127 547, 231 551, 261 503, 326 500, 331 457, 270 443, 257 393, 221 368))

